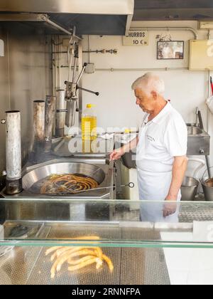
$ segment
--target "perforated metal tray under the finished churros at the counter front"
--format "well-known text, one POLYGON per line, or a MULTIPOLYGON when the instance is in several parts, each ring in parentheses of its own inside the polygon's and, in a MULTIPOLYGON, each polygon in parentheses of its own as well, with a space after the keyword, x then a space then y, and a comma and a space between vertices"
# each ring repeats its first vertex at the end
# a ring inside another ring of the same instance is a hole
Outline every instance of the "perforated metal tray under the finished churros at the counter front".
MULTIPOLYGON (((152 230, 141 235, 140 229, 113 226, 44 226, 42 235, 48 238, 75 238, 82 235, 97 235, 107 239, 159 239, 152 230)), ((54 279, 50 278, 53 262, 45 256, 47 248, 14 248, 11 253, 0 258, 2 276, 0 284, 28 285, 168 285, 170 279, 165 264, 163 250, 160 248, 102 248, 114 263, 111 273, 107 265, 97 269, 95 266, 70 273, 67 265, 62 267, 54 279)))

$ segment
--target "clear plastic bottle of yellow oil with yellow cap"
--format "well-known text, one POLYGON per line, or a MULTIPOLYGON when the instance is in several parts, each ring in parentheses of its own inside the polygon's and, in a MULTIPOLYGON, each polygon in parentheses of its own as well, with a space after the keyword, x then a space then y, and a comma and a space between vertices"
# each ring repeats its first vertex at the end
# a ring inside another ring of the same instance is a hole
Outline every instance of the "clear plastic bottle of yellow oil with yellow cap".
POLYGON ((82 140, 97 138, 97 116, 92 107, 94 105, 87 104, 87 109, 82 113, 82 140))

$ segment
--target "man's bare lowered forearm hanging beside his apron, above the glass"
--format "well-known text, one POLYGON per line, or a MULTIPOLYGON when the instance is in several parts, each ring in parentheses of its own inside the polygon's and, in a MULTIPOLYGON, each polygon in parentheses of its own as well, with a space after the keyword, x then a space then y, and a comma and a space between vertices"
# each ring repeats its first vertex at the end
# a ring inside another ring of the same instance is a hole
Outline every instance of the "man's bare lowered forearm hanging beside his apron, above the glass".
POLYGON ((178 199, 178 192, 180 191, 182 181, 185 177, 187 169, 187 157, 176 157, 173 164, 173 178, 170 184, 170 190, 168 193, 168 200, 178 199))

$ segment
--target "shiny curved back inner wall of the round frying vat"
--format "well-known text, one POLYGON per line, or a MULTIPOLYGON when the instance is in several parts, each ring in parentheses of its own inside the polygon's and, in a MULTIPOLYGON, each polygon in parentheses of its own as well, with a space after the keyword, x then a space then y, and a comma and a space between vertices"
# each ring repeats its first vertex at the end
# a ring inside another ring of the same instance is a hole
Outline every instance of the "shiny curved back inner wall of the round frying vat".
POLYGON ((53 174, 82 174, 86 177, 91 177, 98 184, 102 184, 105 179, 104 171, 95 165, 74 162, 58 162, 38 167, 23 175, 23 189, 29 191, 33 185, 53 174))

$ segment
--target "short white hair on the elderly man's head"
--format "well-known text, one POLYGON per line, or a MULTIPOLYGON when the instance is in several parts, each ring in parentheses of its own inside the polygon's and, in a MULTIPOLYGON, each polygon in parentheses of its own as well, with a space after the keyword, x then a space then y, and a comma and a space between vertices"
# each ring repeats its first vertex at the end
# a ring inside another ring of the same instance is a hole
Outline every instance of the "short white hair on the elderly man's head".
POLYGON ((153 73, 146 73, 142 77, 138 78, 131 86, 133 90, 137 88, 142 89, 147 95, 150 95, 152 91, 163 95, 165 93, 165 83, 162 79, 153 73))

